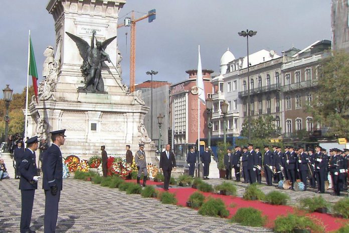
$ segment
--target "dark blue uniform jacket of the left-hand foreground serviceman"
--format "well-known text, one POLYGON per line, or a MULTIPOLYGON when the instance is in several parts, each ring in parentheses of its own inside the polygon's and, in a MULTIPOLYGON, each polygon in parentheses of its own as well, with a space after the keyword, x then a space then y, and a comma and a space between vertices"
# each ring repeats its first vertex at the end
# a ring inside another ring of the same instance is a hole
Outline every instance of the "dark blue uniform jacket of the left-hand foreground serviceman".
POLYGON ((21 190, 33 190, 38 189, 38 183, 33 181, 33 177, 38 173, 36 166, 35 152, 32 153, 28 148, 23 154, 22 161, 19 165, 19 171, 21 174, 20 189, 21 190))

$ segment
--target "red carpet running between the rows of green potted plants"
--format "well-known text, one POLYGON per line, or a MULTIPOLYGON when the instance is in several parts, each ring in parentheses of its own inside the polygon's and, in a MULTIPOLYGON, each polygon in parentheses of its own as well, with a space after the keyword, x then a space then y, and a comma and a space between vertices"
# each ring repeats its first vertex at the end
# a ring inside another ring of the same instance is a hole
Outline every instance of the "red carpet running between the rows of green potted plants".
MULTIPOLYGON (((154 183, 159 184, 159 182, 154 182, 154 183)), ((158 189, 163 191, 163 189, 161 188, 158 188, 158 189)), ((189 196, 196 191, 198 190, 194 188, 170 188, 169 189, 170 193, 176 193, 176 198, 178 199, 177 204, 181 206, 186 206, 186 202, 189 196)), ((268 217, 267 224, 265 225, 268 228, 272 228, 274 226, 274 220, 277 216, 287 215, 288 212, 294 212, 294 209, 291 206, 287 206, 287 205, 270 205, 267 203, 263 203, 261 201, 244 200, 240 197, 224 196, 224 195, 204 193, 204 192, 202 193, 205 196, 212 196, 213 198, 221 198, 225 202, 227 209, 230 211, 229 218, 232 215, 234 215, 235 212, 241 207, 253 207, 261 210, 262 213, 268 217)), ((311 213, 309 215, 317 218, 319 222, 325 226, 326 232, 339 229, 343 225, 343 223, 347 221, 346 219, 336 218, 331 216, 330 214, 324 214, 324 213, 311 213)))

